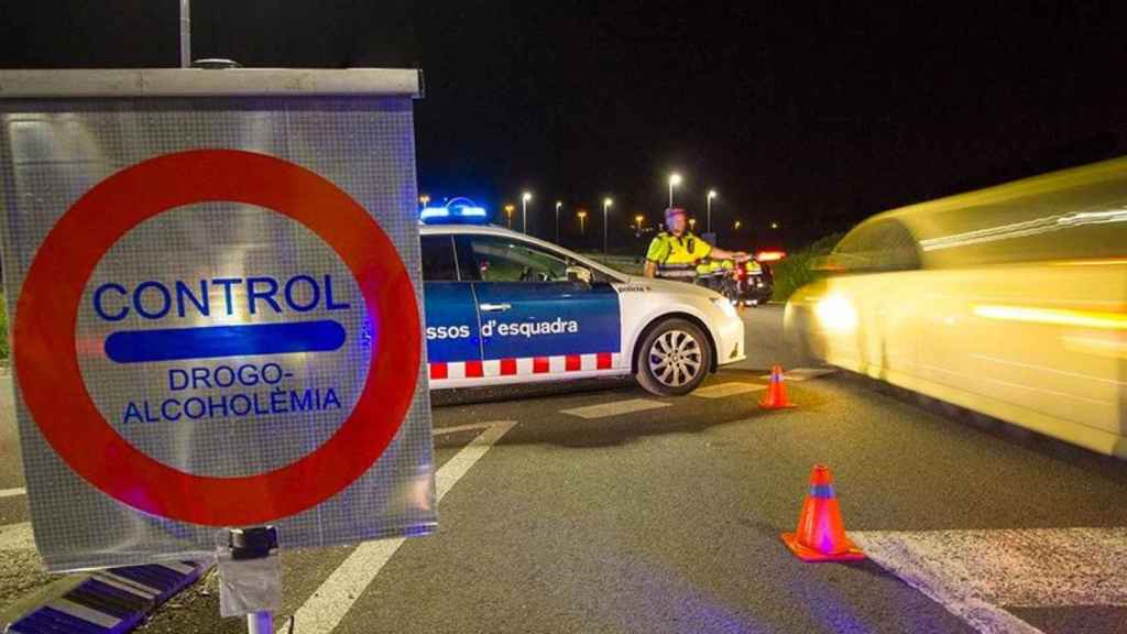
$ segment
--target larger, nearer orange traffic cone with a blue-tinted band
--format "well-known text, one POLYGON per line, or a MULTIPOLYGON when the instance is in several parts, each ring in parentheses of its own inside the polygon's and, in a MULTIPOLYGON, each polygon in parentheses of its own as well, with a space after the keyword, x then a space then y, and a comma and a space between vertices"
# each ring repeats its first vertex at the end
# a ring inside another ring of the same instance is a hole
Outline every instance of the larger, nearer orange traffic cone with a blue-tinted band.
POLYGON ((783 543, 804 562, 852 562, 863 560, 861 552, 845 536, 842 510, 834 496, 834 478, 829 467, 814 465, 810 469, 810 493, 798 516, 798 530, 784 532, 783 543))

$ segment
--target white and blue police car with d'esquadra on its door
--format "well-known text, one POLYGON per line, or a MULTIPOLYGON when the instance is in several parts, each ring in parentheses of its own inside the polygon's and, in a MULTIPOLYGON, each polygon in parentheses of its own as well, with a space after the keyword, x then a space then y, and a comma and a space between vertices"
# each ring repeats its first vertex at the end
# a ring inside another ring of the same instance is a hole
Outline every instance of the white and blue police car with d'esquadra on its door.
POLYGON ((683 395, 745 358, 744 324, 719 293, 473 222, 485 217, 465 204, 423 212, 432 389, 635 375, 683 395))

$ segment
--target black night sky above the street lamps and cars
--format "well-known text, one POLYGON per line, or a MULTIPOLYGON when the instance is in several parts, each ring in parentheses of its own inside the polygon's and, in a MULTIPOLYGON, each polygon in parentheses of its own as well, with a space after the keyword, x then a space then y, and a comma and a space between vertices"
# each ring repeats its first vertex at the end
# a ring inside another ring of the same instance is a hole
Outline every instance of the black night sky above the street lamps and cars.
MULTIPOLYGON (((744 248, 1127 153, 1121 3, 756 5, 195 0, 193 56, 424 69, 421 190, 498 209, 531 188, 541 235, 557 199, 613 196, 612 235, 654 222, 672 169, 691 211, 719 190, 744 248)), ((175 0, 2 7, 5 68, 178 64, 175 0)))

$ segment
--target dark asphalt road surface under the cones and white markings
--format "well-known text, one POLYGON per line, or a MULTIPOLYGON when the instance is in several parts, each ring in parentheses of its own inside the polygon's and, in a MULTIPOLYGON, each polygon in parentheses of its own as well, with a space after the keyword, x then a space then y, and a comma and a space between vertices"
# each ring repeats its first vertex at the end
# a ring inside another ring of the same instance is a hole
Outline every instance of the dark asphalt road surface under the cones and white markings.
MULTIPOLYGON (((284 553, 278 625, 1127 632, 1127 465, 843 372, 796 372, 810 377, 787 384, 798 407, 762 411, 765 370, 797 361, 781 312, 746 310, 752 359, 695 396, 629 381, 437 395, 440 531, 284 553), (782 545, 815 463, 869 560, 807 564, 782 545)), ((245 631, 218 613, 212 575, 142 631, 245 631)))

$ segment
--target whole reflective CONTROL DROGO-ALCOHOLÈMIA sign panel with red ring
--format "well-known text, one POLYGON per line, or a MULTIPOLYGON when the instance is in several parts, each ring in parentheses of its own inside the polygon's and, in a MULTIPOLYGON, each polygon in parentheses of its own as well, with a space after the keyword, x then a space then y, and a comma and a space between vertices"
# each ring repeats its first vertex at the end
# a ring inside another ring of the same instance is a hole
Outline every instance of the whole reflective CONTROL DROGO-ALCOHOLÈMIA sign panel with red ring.
POLYGON ((433 530, 409 82, 141 72, 0 77, 38 99, 0 100, 0 196, 48 567, 433 530))

